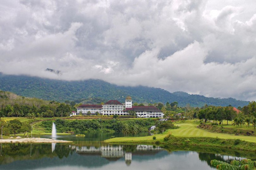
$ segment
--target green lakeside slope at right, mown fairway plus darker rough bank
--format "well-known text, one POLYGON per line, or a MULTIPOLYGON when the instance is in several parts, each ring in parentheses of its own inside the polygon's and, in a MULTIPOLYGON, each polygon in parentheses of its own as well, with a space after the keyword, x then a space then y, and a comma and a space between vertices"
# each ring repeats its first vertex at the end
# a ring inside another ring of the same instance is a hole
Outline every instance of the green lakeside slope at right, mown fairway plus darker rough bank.
POLYGON ((162 134, 144 137, 122 137, 105 140, 107 143, 151 143, 164 145, 198 145, 227 147, 238 150, 256 151, 255 136, 235 136, 225 133, 212 133, 198 128, 196 122, 175 124, 178 129, 166 130, 162 134))

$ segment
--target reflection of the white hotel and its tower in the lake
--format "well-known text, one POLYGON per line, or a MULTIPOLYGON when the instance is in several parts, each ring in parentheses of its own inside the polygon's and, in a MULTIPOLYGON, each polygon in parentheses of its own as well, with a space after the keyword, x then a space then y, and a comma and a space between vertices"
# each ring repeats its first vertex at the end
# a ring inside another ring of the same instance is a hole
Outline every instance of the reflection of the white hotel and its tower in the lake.
POLYGON ((110 161, 116 161, 122 157, 125 158, 125 163, 129 166, 131 164, 132 160, 132 154, 137 154, 137 151, 141 152, 143 151, 143 154, 152 154, 152 153, 158 153, 159 151, 163 150, 162 147, 159 146, 152 146, 152 145, 133 145, 131 148, 127 149, 127 146, 129 145, 119 145, 119 146, 112 146, 112 145, 106 145, 106 146, 100 146, 100 147, 94 147, 94 146, 70 146, 71 149, 76 150, 76 153, 79 154, 96 154, 101 155, 102 157, 110 160, 110 161), (134 147, 134 148, 133 148, 134 147))

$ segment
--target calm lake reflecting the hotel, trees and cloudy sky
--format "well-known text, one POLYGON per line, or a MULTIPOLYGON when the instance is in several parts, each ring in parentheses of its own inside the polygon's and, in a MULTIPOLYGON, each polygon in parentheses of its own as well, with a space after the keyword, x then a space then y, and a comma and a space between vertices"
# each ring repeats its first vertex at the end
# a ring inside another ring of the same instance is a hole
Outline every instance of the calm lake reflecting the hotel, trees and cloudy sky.
MULTIPOLYGON (((142 133, 138 136, 145 136, 142 133)), ((213 170, 212 159, 255 159, 255 153, 195 146, 107 144, 118 133, 57 136, 66 144, 1 144, 1 170, 213 170)), ((51 136, 41 136, 50 138, 51 136)))

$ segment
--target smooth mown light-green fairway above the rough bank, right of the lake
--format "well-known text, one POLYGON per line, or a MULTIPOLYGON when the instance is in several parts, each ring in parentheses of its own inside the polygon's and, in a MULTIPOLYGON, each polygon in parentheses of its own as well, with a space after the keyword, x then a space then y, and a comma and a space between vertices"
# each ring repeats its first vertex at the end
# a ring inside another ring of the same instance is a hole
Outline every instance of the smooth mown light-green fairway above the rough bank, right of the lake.
MULTIPOLYGON (((255 136, 235 136, 225 133, 212 133, 208 132, 207 130, 202 130, 197 128, 197 124, 193 123, 192 121, 186 121, 186 123, 180 123, 175 124, 180 126, 178 129, 173 130, 167 130, 163 134, 155 135, 157 140, 163 140, 163 138, 168 135, 172 134, 173 136, 177 137, 212 137, 212 138, 221 138, 221 139, 241 139, 247 142, 255 142, 256 143, 256 137, 255 136)), ((152 139, 152 136, 144 136, 144 137, 122 137, 122 138, 113 138, 105 140, 105 142, 132 142, 132 143, 153 143, 156 140, 152 139)))

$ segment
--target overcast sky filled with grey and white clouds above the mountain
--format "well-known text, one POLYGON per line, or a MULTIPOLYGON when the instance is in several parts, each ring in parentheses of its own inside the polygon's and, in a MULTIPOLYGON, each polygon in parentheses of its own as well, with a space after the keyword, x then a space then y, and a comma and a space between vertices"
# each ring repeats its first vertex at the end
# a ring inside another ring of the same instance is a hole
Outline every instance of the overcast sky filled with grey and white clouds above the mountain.
POLYGON ((255 101, 255 7, 255 0, 1 0, 0 72, 255 101))

